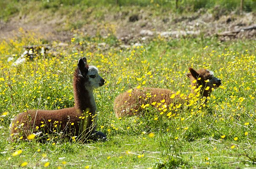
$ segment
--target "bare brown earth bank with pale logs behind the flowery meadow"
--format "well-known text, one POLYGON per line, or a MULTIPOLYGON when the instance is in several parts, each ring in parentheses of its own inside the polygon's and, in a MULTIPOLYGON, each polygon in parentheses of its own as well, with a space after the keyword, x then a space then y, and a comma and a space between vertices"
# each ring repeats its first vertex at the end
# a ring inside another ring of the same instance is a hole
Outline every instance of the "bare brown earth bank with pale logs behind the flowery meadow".
POLYGON ((83 22, 79 26, 67 27, 69 22, 77 23, 83 18, 68 18, 66 16, 36 16, 29 17, 14 16, 9 21, 0 21, 0 39, 7 40, 20 36, 20 29, 25 32, 35 32, 35 37, 43 37, 44 40, 58 40, 61 42, 70 41, 77 32, 83 32, 88 36, 100 34, 106 36, 113 33, 118 39, 130 41, 131 39, 162 36, 162 37, 186 37, 186 36, 218 36, 220 40, 232 38, 256 39, 256 13, 237 14, 235 11, 230 14, 218 12, 209 13, 204 9, 192 14, 164 13, 153 16, 150 11, 141 9, 138 11, 118 12, 111 14, 105 11, 101 20, 83 22), (30 17, 31 18, 31 17, 30 17))

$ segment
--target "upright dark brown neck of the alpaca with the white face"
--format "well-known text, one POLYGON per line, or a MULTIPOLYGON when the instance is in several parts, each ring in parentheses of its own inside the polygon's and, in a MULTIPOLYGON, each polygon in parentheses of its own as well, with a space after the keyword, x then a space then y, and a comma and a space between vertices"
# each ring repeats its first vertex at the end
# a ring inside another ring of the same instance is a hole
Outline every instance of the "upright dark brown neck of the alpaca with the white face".
MULTIPOLYGON (((77 71, 76 71, 77 72, 77 71)), ((78 72, 77 72, 78 73, 78 72)), ((84 86, 85 78, 79 76, 78 74, 74 75, 73 79, 73 91, 74 91, 74 99, 75 99, 75 107, 84 112, 95 113, 96 103, 93 96, 92 89, 86 89, 84 86)))

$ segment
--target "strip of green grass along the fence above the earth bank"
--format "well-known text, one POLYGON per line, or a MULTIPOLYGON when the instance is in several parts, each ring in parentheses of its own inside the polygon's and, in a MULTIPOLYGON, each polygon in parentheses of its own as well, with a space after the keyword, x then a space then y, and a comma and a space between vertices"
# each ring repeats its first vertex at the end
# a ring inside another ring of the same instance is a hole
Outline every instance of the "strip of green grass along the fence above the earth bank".
MULTIPOLYGON (((139 8, 154 8, 156 13, 160 11, 198 11, 201 8, 212 9, 220 6, 223 11, 233 11, 239 9, 240 0, 178 0, 178 9, 176 9, 175 0, 9 0, 0 1, 0 19, 8 20, 14 14, 33 14, 35 12, 46 12, 51 10, 49 14, 58 11, 78 10, 84 11, 88 8, 104 8, 107 10, 128 9, 130 6, 139 8), (8 3, 7 3, 8 2, 8 3)), ((244 11, 255 11, 256 1, 245 0, 244 11)), ((100 10, 96 14, 99 14, 100 10)), ((98 16, 99 17, 99 16, 98 16)), ((79 21, 75 27, 79 27, 79 21)))

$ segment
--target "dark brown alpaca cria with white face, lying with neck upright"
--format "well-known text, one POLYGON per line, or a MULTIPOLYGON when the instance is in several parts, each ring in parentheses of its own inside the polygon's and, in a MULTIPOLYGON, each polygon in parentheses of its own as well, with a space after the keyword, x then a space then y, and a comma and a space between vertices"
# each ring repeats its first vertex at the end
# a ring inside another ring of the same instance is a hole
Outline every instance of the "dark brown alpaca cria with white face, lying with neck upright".
POLYGON ((73 74, 75 106, 60 110, 28 110, 18 114, 12 123, 11 138, 38 135, 45 140, 50 135, 62 133, 64 137, 77 140, 105 139, 106 135, 96 131, 97 108, 93 89, 104 85, 105 80, 95 66, 87 65, 86 58, 78 60, 73 74))

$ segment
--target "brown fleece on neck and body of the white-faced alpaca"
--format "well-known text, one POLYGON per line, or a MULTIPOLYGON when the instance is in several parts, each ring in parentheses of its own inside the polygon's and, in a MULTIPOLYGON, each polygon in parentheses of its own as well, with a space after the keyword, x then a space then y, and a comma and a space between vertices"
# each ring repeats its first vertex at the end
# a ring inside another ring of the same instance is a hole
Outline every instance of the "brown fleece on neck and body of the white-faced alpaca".
POLYGON ((13 140, 15 135, 23 136, 23 139, 26 139, 28 135, 38 132, 48 133, 48 135, 64 132, 67 136, 83 137, 84 139, 89 128, 93 128, 90 114, 95 114, 95 112, 91 112, 95 108, 91 107, 88 101, 90 98, 84 87, 85 80, 86 77, 81 76, 77 68, 73 74, 75 107, 60 110, 28 110, 18 114, 11 123, 11 139, 13 140), (88 114, 86 114, 87 111, 89 111, 88 114), (86 117, 86 121, 89 123, 85 121, 86 117), (87 124, 84 125, 84 123, 87 124))

